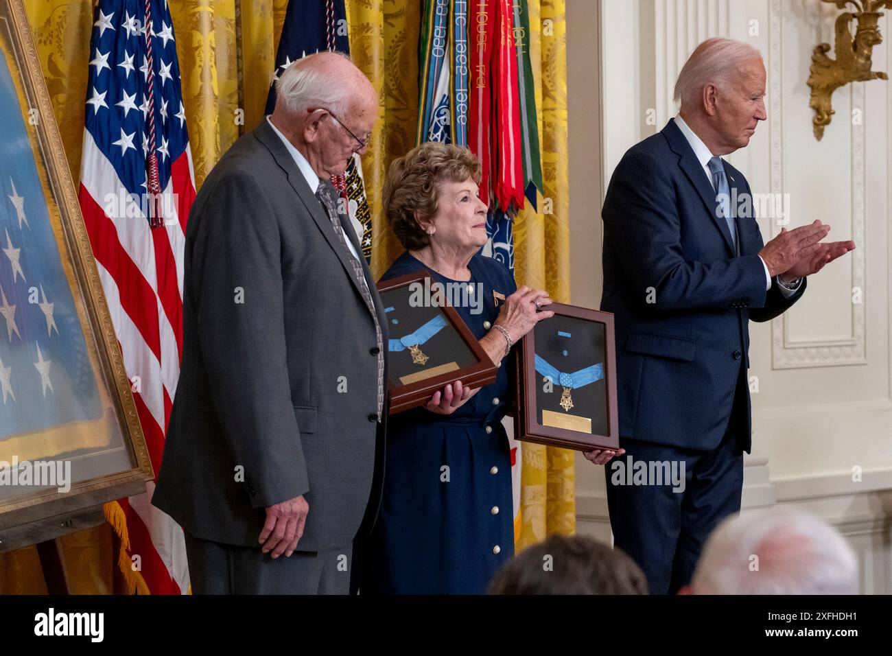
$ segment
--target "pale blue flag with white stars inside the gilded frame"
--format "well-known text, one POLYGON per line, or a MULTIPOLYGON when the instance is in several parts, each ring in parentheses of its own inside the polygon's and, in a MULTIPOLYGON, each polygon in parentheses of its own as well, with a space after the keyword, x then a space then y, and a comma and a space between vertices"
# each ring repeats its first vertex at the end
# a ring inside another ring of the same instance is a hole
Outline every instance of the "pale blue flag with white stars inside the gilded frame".
POLYGON ((0 51, 0 441, 103 415, 8 64, 0 51))

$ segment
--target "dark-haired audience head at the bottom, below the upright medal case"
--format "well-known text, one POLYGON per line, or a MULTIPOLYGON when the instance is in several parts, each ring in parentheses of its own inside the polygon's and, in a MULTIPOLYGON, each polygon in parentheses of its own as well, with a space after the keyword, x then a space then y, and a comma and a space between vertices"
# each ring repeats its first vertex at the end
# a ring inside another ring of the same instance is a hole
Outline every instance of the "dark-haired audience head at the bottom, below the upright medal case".
POLYGON ((648 594, 648 582, 620 549, 583 536, 551 536, 496 572, 490 594, 648 594))

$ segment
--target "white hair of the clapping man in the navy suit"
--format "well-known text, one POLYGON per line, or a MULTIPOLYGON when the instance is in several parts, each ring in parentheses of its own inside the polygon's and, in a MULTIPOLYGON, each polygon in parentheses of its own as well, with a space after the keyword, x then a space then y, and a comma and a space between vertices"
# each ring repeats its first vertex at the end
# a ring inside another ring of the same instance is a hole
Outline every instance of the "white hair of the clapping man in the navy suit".
POLYGON ((727 87, 739 77, 740 65, 754 59, 762 59, 762 54, 742 41, 720 37, 706 39, 681 67, 675 82, 674 100, 681 101, 681 107, 690 107, 698 102, 703 87, 707 84, 727 87))

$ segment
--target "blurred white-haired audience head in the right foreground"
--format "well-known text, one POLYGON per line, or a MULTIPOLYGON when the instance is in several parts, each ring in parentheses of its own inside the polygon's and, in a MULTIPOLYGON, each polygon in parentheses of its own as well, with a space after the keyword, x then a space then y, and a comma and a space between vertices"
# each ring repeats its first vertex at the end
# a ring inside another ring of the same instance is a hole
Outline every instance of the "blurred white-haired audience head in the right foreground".
POLYGON ((855 552, 822 519, 790 506, 725 519, 694 572, 696 594, 857 594, 855 552))

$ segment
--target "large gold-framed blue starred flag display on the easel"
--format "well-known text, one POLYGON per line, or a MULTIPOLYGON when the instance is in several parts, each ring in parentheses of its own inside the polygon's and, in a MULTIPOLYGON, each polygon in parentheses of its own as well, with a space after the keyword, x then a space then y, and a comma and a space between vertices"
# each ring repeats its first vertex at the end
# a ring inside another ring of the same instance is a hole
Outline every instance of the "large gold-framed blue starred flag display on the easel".
POLYGON ((95 524, 103 502, 144 492, 153 468, 21 0, 0 0, 0 104, 17 104, 0 107, 0 246, 12 253, 0 252, 0 468, 9 465, 0 471, 7 476, 0 480, 0 551, 7 551, 95 524), (12 205, 7 196, 16 198, 12 205), (13 258, 27 262, 31 278, 15 270, 13 258), (29 326, 37 306, 24 300, 38 285, 44 315, 48 308, 45 336, 29 326), (46 304, 51 294, 54 303, 46 304), (13 304, 14 330, 7 319, 13 304), (42 398, 28 394, 32 350, 38 361, 53 362, 42 398), (24 480, 24 462, 47 461, 68 463, 67 492, 8 483, 24 480))

